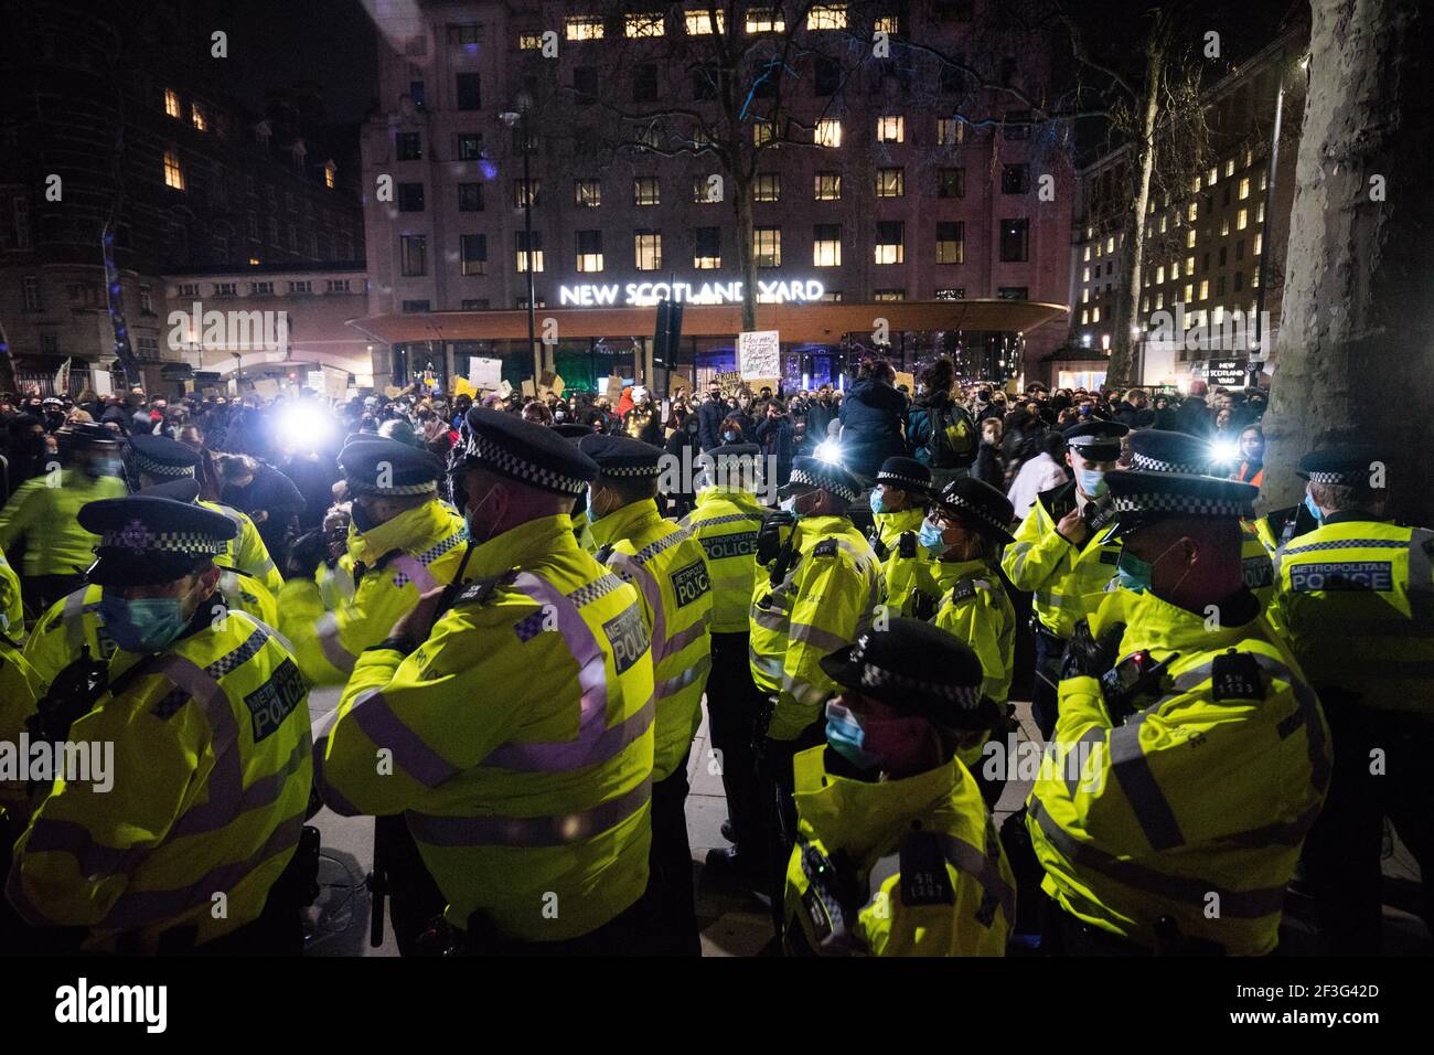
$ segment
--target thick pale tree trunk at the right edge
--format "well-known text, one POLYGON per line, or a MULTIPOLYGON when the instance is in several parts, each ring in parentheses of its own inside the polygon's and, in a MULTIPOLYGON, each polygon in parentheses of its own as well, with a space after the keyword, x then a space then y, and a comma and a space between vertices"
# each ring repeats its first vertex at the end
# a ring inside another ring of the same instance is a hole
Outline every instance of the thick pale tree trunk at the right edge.
POLYGON ((1295 466, 1316 446, 1371 442, 1390 462, 1391 514, 1430 524, 1434 11, 1424 0, 1311 7, 1263 500, 1301 501, 1295 466))

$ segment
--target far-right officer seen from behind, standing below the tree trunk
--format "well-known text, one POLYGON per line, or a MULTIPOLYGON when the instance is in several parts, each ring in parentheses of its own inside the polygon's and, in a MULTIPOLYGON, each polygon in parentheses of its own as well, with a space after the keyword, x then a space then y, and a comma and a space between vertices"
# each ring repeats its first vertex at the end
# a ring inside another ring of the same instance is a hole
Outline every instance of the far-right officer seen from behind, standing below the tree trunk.
POLYGON ((1434 531, 1388 518, 1384 452, 1326 446, 1299 462, 1318 527, 1275 554, 1272 614, 1334 731, 1335 772, 1305 843, 1321 942, 1381 950, 1384 817, 1420 864, 1434 926, 1434 531))

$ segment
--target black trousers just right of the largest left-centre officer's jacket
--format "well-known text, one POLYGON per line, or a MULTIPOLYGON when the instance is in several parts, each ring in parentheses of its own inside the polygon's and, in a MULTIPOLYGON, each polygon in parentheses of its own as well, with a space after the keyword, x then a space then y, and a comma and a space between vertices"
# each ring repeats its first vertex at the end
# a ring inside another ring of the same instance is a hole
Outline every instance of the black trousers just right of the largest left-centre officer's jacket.
POLYGON ((652 850, 648 854, 647 950, 652 956, 701 956, 693 848, 687 841, 687 755, 652 785, 652 850))

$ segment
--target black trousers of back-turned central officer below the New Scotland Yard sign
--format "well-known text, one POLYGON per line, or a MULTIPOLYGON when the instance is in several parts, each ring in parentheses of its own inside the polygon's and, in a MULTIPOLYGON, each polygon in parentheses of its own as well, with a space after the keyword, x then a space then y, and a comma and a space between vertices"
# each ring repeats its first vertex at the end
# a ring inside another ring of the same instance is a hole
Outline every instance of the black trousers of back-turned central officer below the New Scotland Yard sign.
POLYGON ((713 634, 713 669, 707 677, 707 716, 718 752, 733 843, 754 867, 767 857, 770 810, 757 775, 757 723, 766 698, 751 680, 749 634, 713 634))

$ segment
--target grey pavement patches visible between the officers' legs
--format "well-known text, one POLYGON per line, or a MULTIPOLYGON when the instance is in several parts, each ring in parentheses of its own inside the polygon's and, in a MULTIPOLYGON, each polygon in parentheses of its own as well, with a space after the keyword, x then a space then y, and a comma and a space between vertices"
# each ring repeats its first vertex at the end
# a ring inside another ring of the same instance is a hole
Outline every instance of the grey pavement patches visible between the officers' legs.
MULTIPOLYGON (((318 689, 310 695, 314 725, 338 702, 337 689, 318 689)), ((1017 716, 1025 736, 1038 739, 1030 706, 1018 703, 1017 716)), ((701 861, 711 847, 724 847, 721 822, 727 818, 721 778, 707 741, 707 723, 697 733, 688 761, 691 795, 687 800, 687 833, 693 845, 693 868, 697 876, 697 916, 703 929, 703 952, 707 956, 756 956, 771 937, 767 907, 753 894, 744 894, 723 883, 704 883, 701 861)), ((1012 811, 1020 810, 1030 792, 1030 781, 1007 784, 997 804, 999 825, 1012 811)), ((361 817, 338 817, 321 811, 313 821, 324 837, 324 860, 320 881, 324 893, 311 910, 318 934, 310 946, 314 956, 397 956, 393 934, 384 929, 384 944, 369 947, 369 894, 363 877, 373 861, 373 821, 361 817)), ((1418 899, 1418 866, 1408 850, 1394 843, 1385 858, 1385 949, 1394 955, 1428 955, 1430 936, 1414 914, 1418 899)), ((1309 904, 1292 899, 1286 926, 1289 952, 1311 950, 1309 904)))

